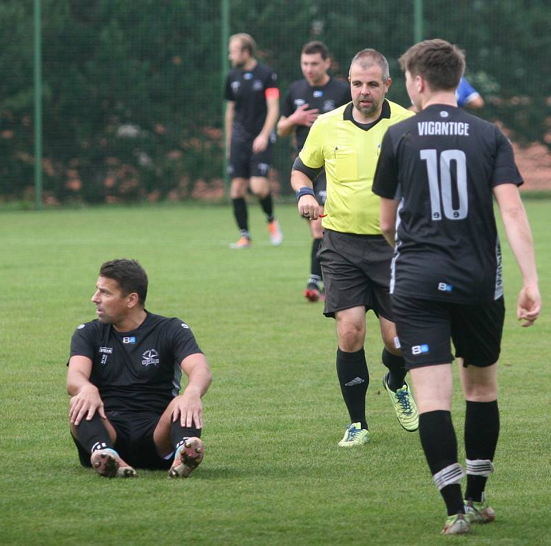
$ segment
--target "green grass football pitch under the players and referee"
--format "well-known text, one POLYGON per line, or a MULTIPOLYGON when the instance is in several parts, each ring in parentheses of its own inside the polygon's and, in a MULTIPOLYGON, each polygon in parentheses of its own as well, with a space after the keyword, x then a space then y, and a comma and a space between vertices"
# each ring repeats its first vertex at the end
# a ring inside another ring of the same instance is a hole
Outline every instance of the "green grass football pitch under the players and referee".
MULTIPOLYGON (((444 505, 418 435, 399 427, 382 391, 372 314, 371 444, 336 447, 347 415, 334 323, 321 305, 303 301, 310 243, 294 206, 277 209, 279 248, 252 206, 254 245, 241 251, 228 249, 236 229, 222 206, 2 213, 0 543, 549 544, 551 202, 526 206, 547 305, 537 325, 519 327, 520 277, 504 243, 501 437, 488 488, 497 521, 457 538, 439 536, 444 505), (94 318, 99 265, 123 256, 149 274, 147 308, 185 319, 214 373, 205 397, 207 455, 188 480, 145 471, 135 480, 102 479, 79 466, 67 430, 70 336, 94 318)), ((464 404, 455 387, 461 439, 464 404)))

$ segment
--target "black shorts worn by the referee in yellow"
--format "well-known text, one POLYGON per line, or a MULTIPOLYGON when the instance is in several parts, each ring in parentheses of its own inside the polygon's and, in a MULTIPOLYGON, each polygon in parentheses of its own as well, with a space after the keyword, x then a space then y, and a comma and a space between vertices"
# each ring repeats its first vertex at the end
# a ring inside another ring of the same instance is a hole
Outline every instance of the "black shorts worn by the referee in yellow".
POLYGON ((325 288, 324 315, 351 307, 393 320, 388 285, 393 249, 382 235, 325 230, 318 258, 325 288))

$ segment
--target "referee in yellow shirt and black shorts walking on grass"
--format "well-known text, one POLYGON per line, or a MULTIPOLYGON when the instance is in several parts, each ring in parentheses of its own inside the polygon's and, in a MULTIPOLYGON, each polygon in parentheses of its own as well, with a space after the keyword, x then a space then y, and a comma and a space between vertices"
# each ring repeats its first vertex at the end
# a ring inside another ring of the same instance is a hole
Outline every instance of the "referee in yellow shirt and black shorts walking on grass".
POLYGON ((369 373, 364 354, 365 314, 380 321, 382 360, 389 372, 383 384, 400 424, 417 430, 417 407, 404 382, 404 360, 395 343, 388 282, 392 250, 379 226, 379 197, 371 191, 382 137, 392 124, 414 114, 384 98, 392 80, 379 52, 362 50, 350 67, 352 102, 324 113, 312 125, 293 165, 291 186, 300 215, 316 219, 313 181, 325 168, 324 237, 318 256, 325 285, 324 314, 337 323, 337 377, 351 423, 341 447, 369 441, 366 393, 369 373))

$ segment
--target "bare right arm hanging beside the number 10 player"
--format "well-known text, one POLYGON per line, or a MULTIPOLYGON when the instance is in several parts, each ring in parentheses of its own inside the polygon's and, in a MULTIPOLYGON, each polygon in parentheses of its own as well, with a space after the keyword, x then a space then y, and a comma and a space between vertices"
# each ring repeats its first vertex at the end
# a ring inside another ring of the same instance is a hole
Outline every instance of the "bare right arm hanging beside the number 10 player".
POLYGON ((495 186, 494 195, 514 258, 521 270, 523 287, 517 301, 517 318, 532 326, 541 310, 532 230, 516 184, 495 186))

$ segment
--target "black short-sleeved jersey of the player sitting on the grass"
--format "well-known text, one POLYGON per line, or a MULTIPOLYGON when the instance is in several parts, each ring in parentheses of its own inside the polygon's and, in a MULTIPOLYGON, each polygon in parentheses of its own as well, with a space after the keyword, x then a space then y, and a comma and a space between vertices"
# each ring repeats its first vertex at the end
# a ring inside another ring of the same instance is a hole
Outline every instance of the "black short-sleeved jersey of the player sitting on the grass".
POLYGON ((160 415, 180 391, 180 362, 201 352, 182 320, 147 312, 134 331, 118 332, 97 319, 81 324, 72 336, 70 356, 92 360, 90 382, 106 411, 160 415))

